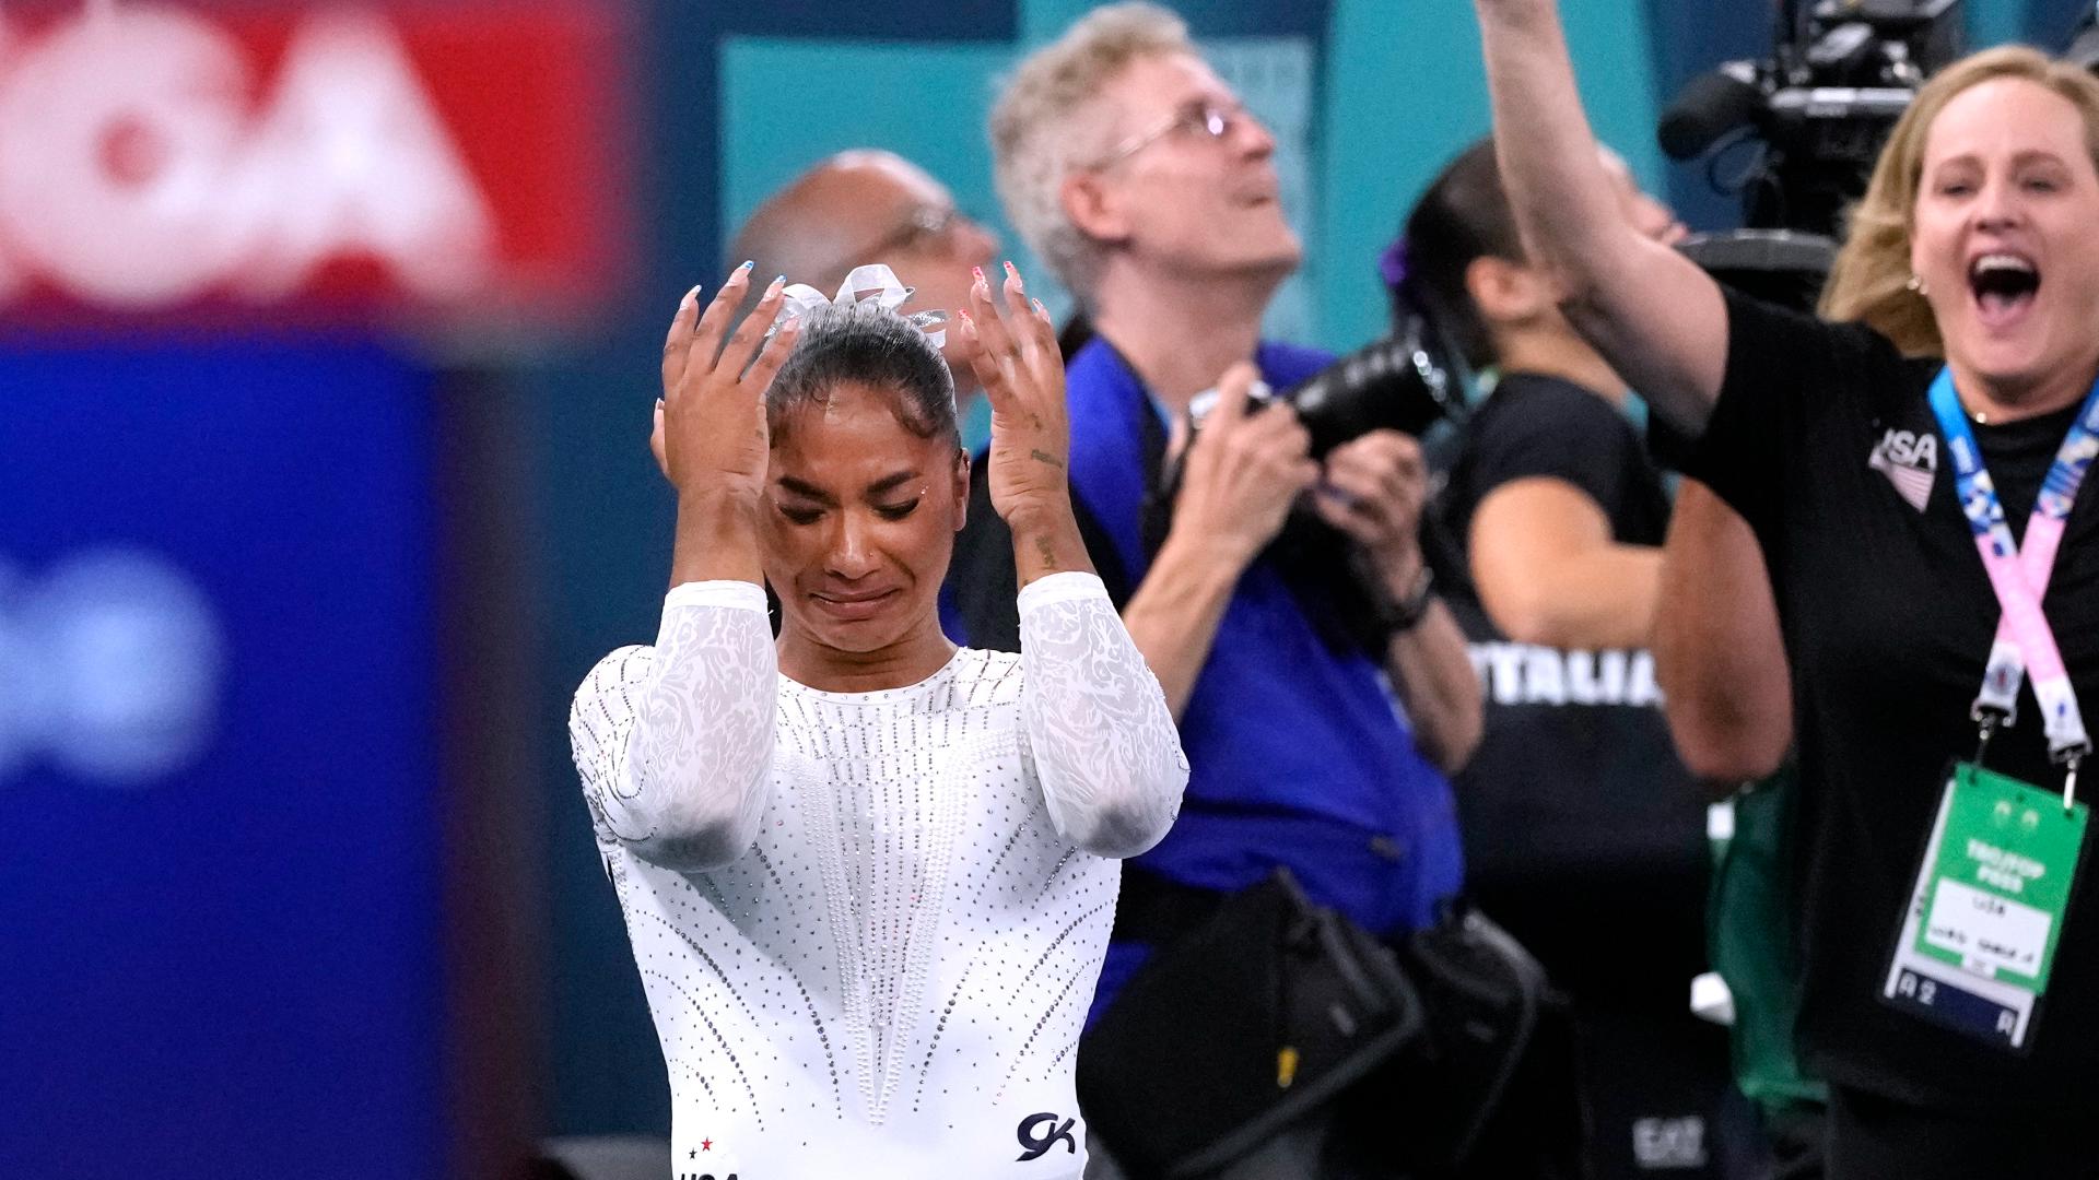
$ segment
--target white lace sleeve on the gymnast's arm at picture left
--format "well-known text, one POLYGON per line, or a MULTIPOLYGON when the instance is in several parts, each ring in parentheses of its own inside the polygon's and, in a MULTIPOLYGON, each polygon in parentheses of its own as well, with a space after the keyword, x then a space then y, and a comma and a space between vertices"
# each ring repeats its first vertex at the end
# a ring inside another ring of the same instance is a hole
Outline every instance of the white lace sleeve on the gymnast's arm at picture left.
POLYGON ((741 857, 768 800, 777 689, 764 590, 674 588, 655 649, 598 661, 569 714, 598 831, 665 867, 741 857))

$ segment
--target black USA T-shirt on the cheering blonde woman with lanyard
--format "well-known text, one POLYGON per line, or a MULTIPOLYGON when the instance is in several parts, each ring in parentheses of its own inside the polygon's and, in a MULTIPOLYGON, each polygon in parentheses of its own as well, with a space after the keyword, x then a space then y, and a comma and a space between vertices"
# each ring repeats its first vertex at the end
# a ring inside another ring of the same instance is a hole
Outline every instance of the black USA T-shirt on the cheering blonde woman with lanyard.
MULTIPOLYGON (((1727 376, 1690 475, 1755 527, 1793 661, 1801 756, 1799 1039, 1809 1069, 1927 1107, 2099 1111, 2099 863, 2080 873, 2030 1058, 1881 1002, 1944 771, 1975 752, 1969 705, 1998 605, 1925 391, 1862 325, 1727 296, 1727 376)), ((2013 533, 2076 409, 1975 426, 2013 533)), ((2099 510, 2084 489, 2042 609, 2099 705, 2099 510)), ((2032 687, 1988 764, 2042 787, 2032 687)))

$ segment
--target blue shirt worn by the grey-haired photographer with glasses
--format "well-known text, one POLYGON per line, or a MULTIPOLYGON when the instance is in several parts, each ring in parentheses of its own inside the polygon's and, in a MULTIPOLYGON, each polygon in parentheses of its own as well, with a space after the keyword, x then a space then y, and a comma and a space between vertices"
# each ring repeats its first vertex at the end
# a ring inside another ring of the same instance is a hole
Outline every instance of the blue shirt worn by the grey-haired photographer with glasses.
MULTIPOLYGON (((1331 359, 1287 344, 1255 353, 1274 388, 1331 359)), ((1073 491, 1138 584, 1150 567, 1140 535, 1150 397, 1106 340, 1073 357, 1066 388, 1073 491)), ((1312 901, 1377 934, 1427 926, 1463 882, 1450 781, 1415 747, 1383 668, 1331 649, 1266 559, 1224 611, 1182 714, 1182 747, 1188 794, 1167 838, 1133 861, 1144 869, 1241 890, 1287 865, 1312 901)), ((1108 949, 1096 1012, 1144 953, 1108 949)))

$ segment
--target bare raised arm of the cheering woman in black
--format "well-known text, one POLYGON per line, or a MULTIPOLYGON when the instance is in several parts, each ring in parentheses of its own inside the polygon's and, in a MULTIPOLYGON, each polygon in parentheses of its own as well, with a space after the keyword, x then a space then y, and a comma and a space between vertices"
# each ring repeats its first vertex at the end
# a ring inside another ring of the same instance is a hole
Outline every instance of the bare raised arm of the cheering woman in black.
POLYGON ((1727 363, 1719 283, 1644 237, 1618 208, 1568 61, 1555 0, 1473 0, 1494 107, 1494 153, 1524 250, 1553 271, 1564 311, 1627 382, 1702 428, 1727 363))

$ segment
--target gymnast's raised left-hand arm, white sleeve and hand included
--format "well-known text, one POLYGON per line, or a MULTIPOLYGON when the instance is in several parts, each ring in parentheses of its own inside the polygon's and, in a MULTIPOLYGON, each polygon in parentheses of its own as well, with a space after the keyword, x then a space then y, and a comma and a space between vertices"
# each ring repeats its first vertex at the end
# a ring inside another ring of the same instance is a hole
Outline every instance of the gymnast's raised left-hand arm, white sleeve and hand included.
POLYGON ((764 391, 800 321, 764 338, 781 302, 775 279, 724 346, 747 271, 722 283, 705 315, 693 288, 663 340, 651 447, 678 491, 678 533, 657 645, 600 661, 569 718, 600 829, 674 869, 741 857, 770 783, 779 659, 758 561, 764 391))

